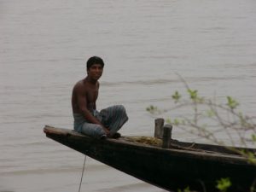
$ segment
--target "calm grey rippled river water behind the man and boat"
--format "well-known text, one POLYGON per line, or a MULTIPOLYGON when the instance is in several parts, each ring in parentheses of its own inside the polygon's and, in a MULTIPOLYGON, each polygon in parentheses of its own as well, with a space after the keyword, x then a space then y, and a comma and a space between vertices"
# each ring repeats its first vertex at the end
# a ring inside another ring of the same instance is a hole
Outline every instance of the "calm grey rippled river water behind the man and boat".
MULTIPOLYGON (((123 135, 153 135, 145 108, 172 104, 177 73, 256 112, 254 0, 0 0, 0 22, 1 192, 79 190, 84 155, 43 128, 72 129, 71 91, 91 55, 106 63, 97 106, 125 105, 123 135)), ((164 190, 87 158, 81 191, 164 190)))

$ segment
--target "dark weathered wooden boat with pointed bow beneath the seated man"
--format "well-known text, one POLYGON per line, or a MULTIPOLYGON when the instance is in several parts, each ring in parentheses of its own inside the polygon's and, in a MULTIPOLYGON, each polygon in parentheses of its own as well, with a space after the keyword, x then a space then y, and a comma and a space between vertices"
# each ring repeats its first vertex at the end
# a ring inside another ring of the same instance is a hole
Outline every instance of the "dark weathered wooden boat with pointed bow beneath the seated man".
MULTIPOLYGON (((217 145, 182 143, 170 140, 170 148, 160 139, 120 137, 94 139, 76 131, 45 126, 46 136, 121 172, 162 189, 177 191, 218 191, 217 180, 229 177, 228 191, 249 191, 256 177, 256 166, 230 148, 217 145), (144 140, 139 143, 138 140, 144 140), (158 141, 158 142, 155 142, 158 141)), ((241 149, 241 148, 236 148, 241 149)), ((255 149, 247 148, 251 153, 255 149)))

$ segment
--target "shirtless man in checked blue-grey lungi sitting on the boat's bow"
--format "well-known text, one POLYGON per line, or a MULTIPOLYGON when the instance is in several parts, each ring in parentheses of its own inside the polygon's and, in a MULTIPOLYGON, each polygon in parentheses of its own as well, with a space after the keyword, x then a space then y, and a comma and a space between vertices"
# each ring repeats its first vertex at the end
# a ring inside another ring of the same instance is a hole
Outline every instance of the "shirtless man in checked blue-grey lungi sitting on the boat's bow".
POLYGON ((87 76, 73 87, 72 108, 74 130, 90 137, 120 137, 117 132, 128 120, 122 105, 96 110, 96 99, 102 77, 104 62, 102 58, 92 56, 87 61, 87 76))

